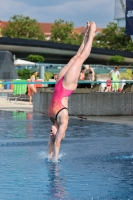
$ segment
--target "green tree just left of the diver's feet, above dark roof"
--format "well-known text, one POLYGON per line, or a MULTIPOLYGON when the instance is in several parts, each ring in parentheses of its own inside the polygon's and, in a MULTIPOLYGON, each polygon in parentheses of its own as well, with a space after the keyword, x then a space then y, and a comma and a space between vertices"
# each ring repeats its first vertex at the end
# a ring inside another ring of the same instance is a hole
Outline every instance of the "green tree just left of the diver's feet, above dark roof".
POLYGON ((54 25, 52 26, 52 36, 51 41, 53 42, 61 42, 66 44, 81 44, 83 39, 82 35, 79 35, 73 31, 74 23, 73 22, 65 22, 64 20, 56 20, 54 25))

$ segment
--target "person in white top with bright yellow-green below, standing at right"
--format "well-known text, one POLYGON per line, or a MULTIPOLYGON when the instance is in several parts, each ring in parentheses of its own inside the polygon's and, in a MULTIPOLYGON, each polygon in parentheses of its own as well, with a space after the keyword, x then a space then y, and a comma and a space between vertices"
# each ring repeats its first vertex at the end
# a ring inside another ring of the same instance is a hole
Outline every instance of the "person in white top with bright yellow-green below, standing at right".
POLYGON ((112 91, 116 92, 119 88, 119 80, 120 80, 120 72, 118 71, 118 66, 114 67, 114 70, 111 70, 109 75, 111 76, 112 80, 112 91))

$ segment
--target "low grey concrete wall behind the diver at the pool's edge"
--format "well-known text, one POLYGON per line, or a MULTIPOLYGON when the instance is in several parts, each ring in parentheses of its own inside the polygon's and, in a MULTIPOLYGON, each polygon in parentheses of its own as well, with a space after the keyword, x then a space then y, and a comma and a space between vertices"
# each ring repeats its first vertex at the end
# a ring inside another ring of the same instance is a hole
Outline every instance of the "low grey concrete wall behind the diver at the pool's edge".
MULTIPOLYGON (((39 88, 33 96, 33 111, 47 115, 53 88, 39 88)), ((132 116, 133 92, 93 92, 78 88, 69 98, 72 116, 132 116)))

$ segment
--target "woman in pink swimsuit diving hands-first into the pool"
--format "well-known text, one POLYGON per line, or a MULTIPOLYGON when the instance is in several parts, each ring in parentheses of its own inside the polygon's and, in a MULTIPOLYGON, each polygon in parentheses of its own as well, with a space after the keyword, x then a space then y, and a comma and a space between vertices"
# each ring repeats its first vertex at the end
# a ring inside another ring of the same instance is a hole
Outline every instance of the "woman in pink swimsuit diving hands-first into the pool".
POLYGON ((48 156, 49 159, 53 157, 54 161, 58 160, 60 143, 68 126, 68 98, 77 88, 81 67, 90 55, 95 31, 95 22, 87 22, 84 40, 77 54, 61 69, 57 78, 48 108, 48 116, 53 123, 48 141, 48 156))

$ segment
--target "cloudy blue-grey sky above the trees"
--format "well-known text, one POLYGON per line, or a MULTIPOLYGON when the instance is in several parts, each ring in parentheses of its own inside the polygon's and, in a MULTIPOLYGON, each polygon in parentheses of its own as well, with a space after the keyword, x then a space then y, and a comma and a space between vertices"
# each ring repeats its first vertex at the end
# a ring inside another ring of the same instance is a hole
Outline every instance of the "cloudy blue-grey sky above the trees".
POLYGON ((114 4, 115 0, 4 0, 0 20, 22 14, 38 22, 72 21, 75 27, 86 26, 87 20, 95 21, 97 27, 104 28, 114 21, 114 4))

